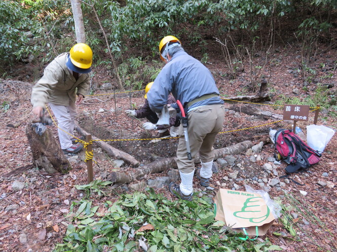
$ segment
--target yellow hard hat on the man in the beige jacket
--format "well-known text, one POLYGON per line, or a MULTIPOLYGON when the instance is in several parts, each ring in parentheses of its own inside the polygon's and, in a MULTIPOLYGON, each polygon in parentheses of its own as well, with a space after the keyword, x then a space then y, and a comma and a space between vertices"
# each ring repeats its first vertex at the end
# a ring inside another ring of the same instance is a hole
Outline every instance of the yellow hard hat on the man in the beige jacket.
POLYGON ((70 61, 76 67, 88 69, 92 64, 92 51, 89 45, 78 43, 70 49, 70 61))

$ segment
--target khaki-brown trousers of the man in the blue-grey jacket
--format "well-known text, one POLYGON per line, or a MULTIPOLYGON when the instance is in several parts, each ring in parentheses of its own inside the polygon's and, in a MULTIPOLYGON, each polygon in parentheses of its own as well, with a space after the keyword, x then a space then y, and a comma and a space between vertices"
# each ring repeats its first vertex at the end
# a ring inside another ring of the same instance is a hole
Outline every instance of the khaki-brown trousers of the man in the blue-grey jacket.
MULTIPOLYGON (((222 104, 207 105, 188 113, 188 136, 190 141, 192 160, 187 158, 186 142, 184 137, 179 138, 177 148, 177 165, 182 173, 194 171, 194 159, 199 153, 202 163, 214 159, 215 137, 223 127, 224 107, 222 104)), ((184 135, 182 124, 179 127, 179 136, 184 135)))

